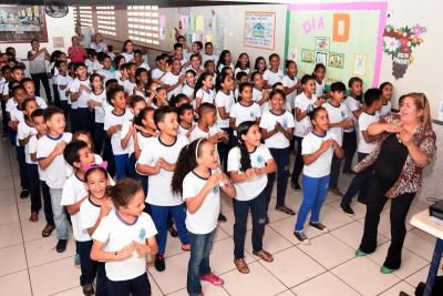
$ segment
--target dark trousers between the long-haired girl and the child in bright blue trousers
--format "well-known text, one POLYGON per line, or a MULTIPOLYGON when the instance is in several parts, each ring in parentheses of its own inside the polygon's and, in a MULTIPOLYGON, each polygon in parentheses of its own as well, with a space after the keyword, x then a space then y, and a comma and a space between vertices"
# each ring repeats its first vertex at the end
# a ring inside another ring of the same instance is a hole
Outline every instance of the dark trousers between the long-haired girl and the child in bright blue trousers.
MULTIPOLYGON (((286 188, 288 186, 289 175, 289 147, 286 149, 269 149, 274 161, 277 164, 277 204, 276 207, 285 205, 286 188)), ((268 174, 268 184, 266 185, 266 211, 269 207, 270 197, 272 194, 274 181, 276 173, 268 174)))

